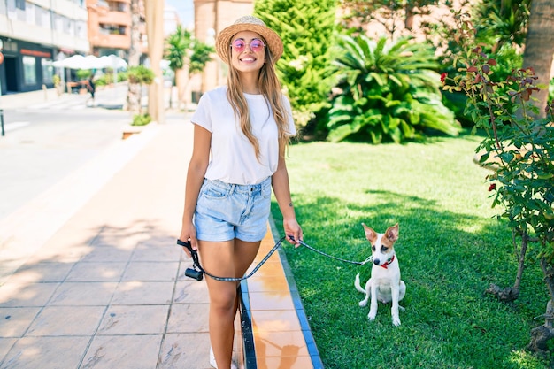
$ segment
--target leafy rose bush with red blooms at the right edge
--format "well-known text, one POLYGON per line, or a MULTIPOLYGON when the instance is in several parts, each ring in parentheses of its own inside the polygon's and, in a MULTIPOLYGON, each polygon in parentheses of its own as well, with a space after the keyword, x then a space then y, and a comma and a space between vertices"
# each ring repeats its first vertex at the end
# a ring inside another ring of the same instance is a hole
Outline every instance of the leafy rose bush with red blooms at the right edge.
POLYGON ((546 117, 538 118, 535 85, 538 77, 532 68, 514 70, 505 81, 491 78, 497 60, 489 57, 472 39, 473 24, 464 14, 458 16, 458 39, 466 40, 460 60, 466 67, 453 79, 448 89, 463 91, 467 97, 466 112, 485 137, 477 148, 481 165, 494 172, 489 175, 493 206, 504 211, 512 228, 513 250, 519 268, 514 285, 500 288, 491 285, 487 292, 504 301, 519 296, 524 269, 532 262, 540 264, 550 299, 542 326, 531 330, 529 350, 548 350, 554 337, 554 104, 546 106, 546 117), (527 248, 535 257, 527 257, 527 248))

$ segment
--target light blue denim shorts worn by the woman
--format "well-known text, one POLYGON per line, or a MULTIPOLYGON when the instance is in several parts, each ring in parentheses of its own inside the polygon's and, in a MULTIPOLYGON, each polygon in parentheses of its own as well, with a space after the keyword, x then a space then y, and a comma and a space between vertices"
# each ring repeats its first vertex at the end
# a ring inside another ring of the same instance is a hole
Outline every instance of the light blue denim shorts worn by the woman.
POLYGON ((237 185, 204 179, 194 223, 196 238, 223 242, 238 238, 261 241, 271 207, 271 177, 256 185, 237 185))

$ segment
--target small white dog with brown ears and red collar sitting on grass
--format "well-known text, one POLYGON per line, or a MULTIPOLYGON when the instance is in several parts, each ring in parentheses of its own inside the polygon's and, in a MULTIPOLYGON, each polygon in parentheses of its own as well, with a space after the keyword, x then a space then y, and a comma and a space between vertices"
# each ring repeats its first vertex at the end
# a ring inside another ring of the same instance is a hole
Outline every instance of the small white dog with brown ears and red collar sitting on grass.
POLYGON ((398 302, 406 294, 406 285, 400 280, 400 265, 395 254, 395 242, 398 240, 398 224, 387 228, 384 234, 378 234, 372 228, 365 226, 365 237, 372 245, 373 265, 371 278, 365 283, 365 289, 359 283, 359 273, 356 275, 354 286, 359 292, 365 294, 365 299, 359 302, 365 306, 371 297, 371 305, 367 318, 374 320, 377 315, 377 302, 383 304, 392 302, 390 313, 392 324, 400 326, 398 308, 404 310, 398 302))

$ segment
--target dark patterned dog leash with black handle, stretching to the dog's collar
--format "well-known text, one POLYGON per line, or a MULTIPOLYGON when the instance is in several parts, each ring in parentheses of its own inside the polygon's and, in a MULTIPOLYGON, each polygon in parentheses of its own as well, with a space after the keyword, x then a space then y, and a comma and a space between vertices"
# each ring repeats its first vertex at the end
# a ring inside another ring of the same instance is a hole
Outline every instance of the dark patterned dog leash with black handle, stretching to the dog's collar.
MULTIPOLYGON (((252 271, 248 275, 240 277, 240 278, 219 277, 217 275, 213 275, 212 273, 206 272, 205 269, 202 267, 202 265, 200 265, 200 260, 198 259, 198 251, 197 250, 192 250, 192 246, 190 245, 190 241, 184 242, 184 241, 181 241, 180 239, 177 239, 177 244, 179 246, 186 247, 187 250, 189 250, 189 252, 190 252, 190 256, 192 257, 192 268, 187 268, 187 270, 185 270, 185 275, 187 277, 193 278, 196 281, 202 281, 203 274, 206 274, 207 276, 211 277, 212 279, 214 279, 216 281, 232 282, 232 281, 246 280, 246 279, 250 278, 252 275, 254 275, 254 273, 258 272, 258 269, 262 265, 264 265, 265 262, 267 261, 267 259, 269 259, 273 255, 273 252, 275 252, 277 249, 279 249, 282 242, 285 241, 285 238, 286 238, 286 236, 281 237, 281 239, 278 242, 275 243, 272 250, 269 250, 267 255, 265 255, 265 258, 263 258, 259 262, 259 264, 256 265, 256 267, 254 269, 252 269, 252 271)), ((292 241, 295 241, 295 238, 293 236, 289 235, 289 238, 292 241)), ((317 249, 313 248, 312 246, 310 246, 309 244, 307 244, 304 241, 300 241, 299 243, 308 250, 312 250, 314 252, 317 252, 320 255, 323 255, 324 257, 332 258, 332 259, 335 259, 335 260, 338 260, 338 261, 342 261, 344 263, 350 263, 350 264, 356 264, 356 265, 365 265, 365 264, 370 263, 370 262, 373 261, 373 256, 370 256, 370 257, 366 258, 364 261, 353 261, 353 260, 347 260, 345 258, 337 258, 333 255, 329 255, 329 254, 327 254, 327 253, 325 253, 321 250, 317 250, 317 249)))

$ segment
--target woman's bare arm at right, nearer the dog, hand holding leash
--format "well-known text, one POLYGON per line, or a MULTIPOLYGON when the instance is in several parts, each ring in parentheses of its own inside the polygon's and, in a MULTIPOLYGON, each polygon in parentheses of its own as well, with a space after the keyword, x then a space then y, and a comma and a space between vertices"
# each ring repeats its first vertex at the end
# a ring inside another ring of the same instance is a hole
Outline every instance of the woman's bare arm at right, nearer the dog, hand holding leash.
POLYGON ((298 247, 303 239, 303 234, 302 228, 296 221, 295 208, 290 197, 289 173, 283 155, 280 155, 277 171, 273 173, 272 187, 283 216, 283 229, 287 235, 287 240, 298 247), (293 236, 294 241, 289 236, 293 236))

